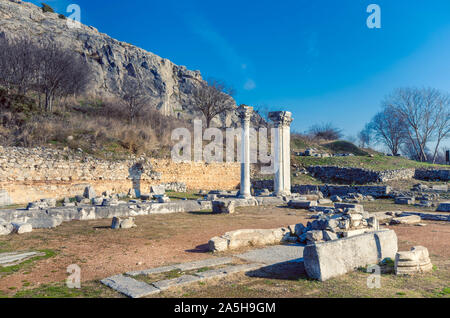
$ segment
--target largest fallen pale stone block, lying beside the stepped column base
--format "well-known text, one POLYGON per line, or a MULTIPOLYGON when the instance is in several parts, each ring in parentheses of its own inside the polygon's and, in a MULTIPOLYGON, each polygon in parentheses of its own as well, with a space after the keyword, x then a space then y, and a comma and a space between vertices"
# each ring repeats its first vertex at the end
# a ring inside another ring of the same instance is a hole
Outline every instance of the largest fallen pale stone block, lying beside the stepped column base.
POLYGON ((394 260, 397 249, 395 232, 383 230, 307 245, 303 259, 308 276, 325 281, 385 258, 394 260))

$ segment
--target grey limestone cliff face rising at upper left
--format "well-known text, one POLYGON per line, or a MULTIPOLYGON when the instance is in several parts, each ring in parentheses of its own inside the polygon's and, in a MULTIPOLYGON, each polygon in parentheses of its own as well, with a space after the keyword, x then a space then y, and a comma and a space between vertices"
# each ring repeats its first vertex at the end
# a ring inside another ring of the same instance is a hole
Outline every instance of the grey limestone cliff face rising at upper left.
MULTIPOLYGON (((175 65, 131 44, 100 33, 91 26, 69 28, 57 13, 44 13, 34 4, 19 0, 0 0, 0 36, 29 35, 48 38, 79 52, 92 70, 89 95, 106 97, 121 90, 124 76, 136 76, 154 97, 157 108, 166 115, 192 118, 196 114, 191 92, 203 81, 199 71, 175 65)), ((223 124, 235 122, 234 115, 222 118, 223 124)))

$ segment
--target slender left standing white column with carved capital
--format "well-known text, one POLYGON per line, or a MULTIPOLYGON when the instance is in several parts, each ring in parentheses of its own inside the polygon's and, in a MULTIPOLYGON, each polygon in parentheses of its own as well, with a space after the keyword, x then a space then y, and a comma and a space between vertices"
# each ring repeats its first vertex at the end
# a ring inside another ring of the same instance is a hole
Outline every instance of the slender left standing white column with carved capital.
POLYGON ((253 107, 241 105, 238 108, 239 118, 241 119, 242 138, 241 138, 241 190, 239 197, 250 198, 250 117, 253 107))

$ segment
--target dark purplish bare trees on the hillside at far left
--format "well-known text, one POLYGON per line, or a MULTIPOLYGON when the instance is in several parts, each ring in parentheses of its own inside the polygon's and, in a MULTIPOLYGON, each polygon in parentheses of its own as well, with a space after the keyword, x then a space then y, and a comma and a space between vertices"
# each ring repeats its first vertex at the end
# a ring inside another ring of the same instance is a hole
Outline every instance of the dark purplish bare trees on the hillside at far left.
POLYGON ((0 37, 0 86, 8 93, 36 92, 40 107, 52 112, 55 98, 80 94, 89 81, 84 58, 59 43, 0 37))

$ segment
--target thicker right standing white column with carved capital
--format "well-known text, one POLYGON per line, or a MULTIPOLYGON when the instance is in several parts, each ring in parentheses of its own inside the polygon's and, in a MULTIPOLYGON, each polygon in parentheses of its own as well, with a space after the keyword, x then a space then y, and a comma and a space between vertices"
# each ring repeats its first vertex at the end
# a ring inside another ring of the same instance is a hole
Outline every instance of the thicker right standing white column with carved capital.
POLYGON ((275 183, 274 195, 291 194, 291 123, 292 113, 269 113, 275 124, 275 183))

